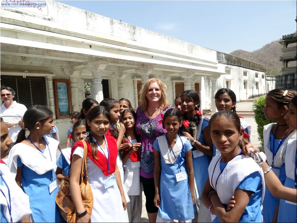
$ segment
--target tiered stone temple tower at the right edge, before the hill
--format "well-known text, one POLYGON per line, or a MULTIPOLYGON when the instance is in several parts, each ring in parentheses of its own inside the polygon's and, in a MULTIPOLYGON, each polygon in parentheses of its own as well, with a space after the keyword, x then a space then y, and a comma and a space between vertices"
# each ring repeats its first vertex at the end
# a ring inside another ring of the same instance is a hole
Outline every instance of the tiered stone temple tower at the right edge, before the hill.
MULTIPOLYGON (((295 19, 297 22, 297 17, 295 19)), ((275 88, 297 89, 297 33, 283 35, 278 41, 282 44, 282 75, 276 76, 275 88), (294 44, 295 43, 295 44, 294 44), (295 61, 295 63, 293 63, 295 61)))

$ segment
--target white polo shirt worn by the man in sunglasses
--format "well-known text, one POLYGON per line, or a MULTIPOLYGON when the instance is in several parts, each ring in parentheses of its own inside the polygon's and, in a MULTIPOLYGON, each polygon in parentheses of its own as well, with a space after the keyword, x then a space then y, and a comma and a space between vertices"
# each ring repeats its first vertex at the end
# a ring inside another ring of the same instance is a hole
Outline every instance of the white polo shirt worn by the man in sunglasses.
MULTIPOLYGON (((19 122, 23 118, 26 111, 26 106, 13 101, 12 105, 8 109, 5 108, 5 103, 2 104, 2 106, 0 107, 0 116, 6 123, 19 122)), ((20 130, 21 128, 19 125, 12 126, 8 129, 8 135, 12 139, 12 142, 15 142, 20 130)))

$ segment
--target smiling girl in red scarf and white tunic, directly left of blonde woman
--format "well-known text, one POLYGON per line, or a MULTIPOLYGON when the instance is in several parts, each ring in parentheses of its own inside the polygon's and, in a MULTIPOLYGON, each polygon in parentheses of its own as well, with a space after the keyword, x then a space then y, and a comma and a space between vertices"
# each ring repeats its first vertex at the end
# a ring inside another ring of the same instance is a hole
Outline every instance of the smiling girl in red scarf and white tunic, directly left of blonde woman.
POLYGON ((121 150, 124 168, 124 188, 127 191, 130 202, 127 204, 129 222, 140 222, 142 212, 142 193, 140 188, 140 156, 139 136, 135 131, 136 113, 131 109, 125 109, 121 114, 121 120, 126 132, 123 144, 129 143, 127 149, 121 150))

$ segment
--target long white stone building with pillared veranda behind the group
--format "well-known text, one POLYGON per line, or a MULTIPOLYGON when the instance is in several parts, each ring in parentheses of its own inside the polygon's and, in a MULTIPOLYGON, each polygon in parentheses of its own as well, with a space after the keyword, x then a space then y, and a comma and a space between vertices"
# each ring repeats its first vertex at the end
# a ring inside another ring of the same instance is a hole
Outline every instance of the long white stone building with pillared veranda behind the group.
POLYGON ((27 108, 47 105, 61 145, 69 113, 80 111, 86 98, 85 83, 99 102, 127 98, 137 107, 142 84, 155 77, 167 85, 171 105, 176 95, 194 89, 200 110, 212 112, 220 88, 232 89, 239 101, 274 87, 264 65, 56 1, 0 10, 1 85, 15 89, 27 108))

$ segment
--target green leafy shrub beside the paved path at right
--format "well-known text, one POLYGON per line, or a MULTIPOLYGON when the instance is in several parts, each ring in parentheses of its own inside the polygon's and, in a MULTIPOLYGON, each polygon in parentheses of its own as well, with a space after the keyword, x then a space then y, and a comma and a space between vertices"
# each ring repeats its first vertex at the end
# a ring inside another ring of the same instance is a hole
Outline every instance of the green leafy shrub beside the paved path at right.
POLYGON ((257 132, 258 132, 258 139, 260 140, 261 144, 263 145, 263 126, 269 123, 276 122, 275 120, 267 120, 265 118, 263 107, 265 106, 265 97, 260 97, 254 100, 253 103, 253 112, 255 113, 255 121, 257 123, 257 132))

